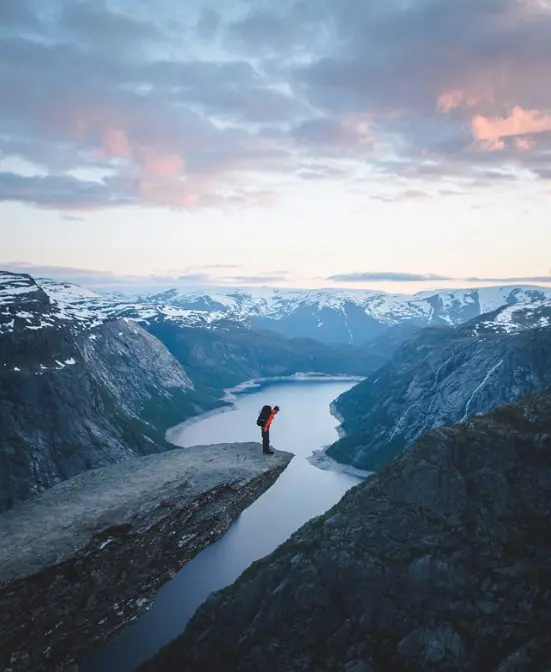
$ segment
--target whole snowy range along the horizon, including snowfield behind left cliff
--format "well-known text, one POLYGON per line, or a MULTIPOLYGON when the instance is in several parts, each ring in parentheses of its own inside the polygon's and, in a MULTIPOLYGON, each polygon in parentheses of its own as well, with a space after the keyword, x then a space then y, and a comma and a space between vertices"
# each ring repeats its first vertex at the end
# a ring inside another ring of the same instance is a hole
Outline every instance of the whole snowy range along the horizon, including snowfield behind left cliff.
POLYGON ((94 292, 39 278, 41 288, 68 311, 218 329, 267 329, 287 338, 363 346, 396 327, 457 326, 501 306, 551 299, 536 286, 435 290, 415 295, 374 290, 179 287, 146 294, 94 292))

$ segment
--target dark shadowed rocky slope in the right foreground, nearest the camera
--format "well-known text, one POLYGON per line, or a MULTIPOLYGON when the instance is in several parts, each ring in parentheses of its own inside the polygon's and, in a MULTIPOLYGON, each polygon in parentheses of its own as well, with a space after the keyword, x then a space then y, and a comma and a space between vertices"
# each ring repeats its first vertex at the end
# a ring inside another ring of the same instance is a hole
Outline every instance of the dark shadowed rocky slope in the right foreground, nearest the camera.
POLYGON ((551 668, 551 398, 433 430, 199 607, 143 672, 551 668))

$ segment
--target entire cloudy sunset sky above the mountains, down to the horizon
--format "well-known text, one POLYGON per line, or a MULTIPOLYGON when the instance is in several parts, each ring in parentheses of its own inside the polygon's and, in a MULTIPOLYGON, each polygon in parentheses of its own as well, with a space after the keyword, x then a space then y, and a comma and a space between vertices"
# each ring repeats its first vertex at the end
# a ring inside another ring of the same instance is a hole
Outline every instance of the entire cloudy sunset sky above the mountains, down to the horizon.
POLYGON ((551 0, 1 0, 0 267, 551 283, 551 0))

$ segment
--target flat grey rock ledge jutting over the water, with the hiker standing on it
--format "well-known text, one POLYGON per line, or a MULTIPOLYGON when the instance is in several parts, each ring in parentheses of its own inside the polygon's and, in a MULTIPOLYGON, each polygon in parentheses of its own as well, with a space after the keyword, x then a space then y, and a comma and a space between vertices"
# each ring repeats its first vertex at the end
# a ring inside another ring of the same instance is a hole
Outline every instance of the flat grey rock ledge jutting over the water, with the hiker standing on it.
POLYGON ((291 459, 256 443, 133 457, 0 515, 0 669, 77 669, 291 459))

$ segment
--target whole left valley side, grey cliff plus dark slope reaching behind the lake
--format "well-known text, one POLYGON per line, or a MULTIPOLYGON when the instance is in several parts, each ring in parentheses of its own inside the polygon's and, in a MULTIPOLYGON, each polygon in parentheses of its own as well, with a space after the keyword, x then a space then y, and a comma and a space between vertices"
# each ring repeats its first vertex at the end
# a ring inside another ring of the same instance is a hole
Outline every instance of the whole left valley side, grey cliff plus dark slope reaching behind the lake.
POLYGON ((0 511, 81 471, 166 450, 166 429, 224 405, 226 388, 299 372, 364 376, 383 361, 225 314, 1 273, 0 511))

